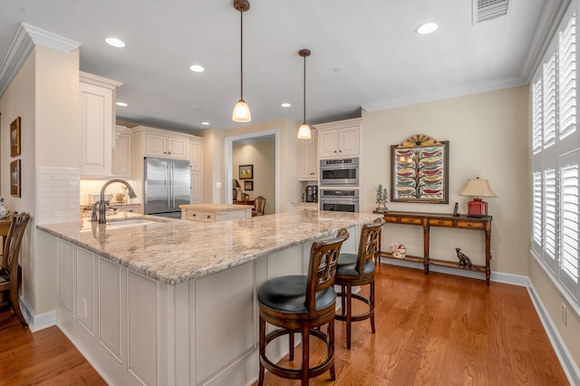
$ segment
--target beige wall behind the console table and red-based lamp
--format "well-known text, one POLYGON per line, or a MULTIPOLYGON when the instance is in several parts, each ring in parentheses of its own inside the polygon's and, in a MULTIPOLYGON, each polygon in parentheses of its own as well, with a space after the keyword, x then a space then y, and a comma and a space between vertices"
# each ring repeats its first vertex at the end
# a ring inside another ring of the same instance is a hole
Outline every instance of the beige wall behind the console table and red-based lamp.
MULTIPOLYGON (((390 187, 391 145, 413 134, 449 140, 449 204, 389 203, 391 210, 466 213, 459 193, 468 179, 488 179, 498 198, 487 198, 493 216, 492 272, 527 275, 529 184, 528 88, 518 87, 365 114, 362 125, 362 211, 376 207, 374 188, 390 187)), ((422 255, 420 227, 387 225, 383 245, 397 241, 422 255)), ((480 232, 431 228, 431 257, 456 259, 455 247, 483 262, 480 232)))

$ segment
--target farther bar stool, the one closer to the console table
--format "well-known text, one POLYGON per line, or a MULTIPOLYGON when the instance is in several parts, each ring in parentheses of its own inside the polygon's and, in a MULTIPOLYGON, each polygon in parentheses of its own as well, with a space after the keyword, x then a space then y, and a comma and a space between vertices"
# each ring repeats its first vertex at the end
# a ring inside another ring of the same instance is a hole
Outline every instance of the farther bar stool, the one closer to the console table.
POLYGON ((372 333, 374 330, 374 257, 379 253, 378 240, 381 235, 382 218, 364 224, 361 230, 361 241, 358 255, 340 254, 336 266, 334 284, 341 286, 341 313, 334 316, 339 321, 346 322, 346 348, 351 348, 351 323, 371 318, 372 333), (369 297, 362 294, 353 294, 353 285, 370 285, 369 297), (353 315, 353 299, 368 304, 369 310, 362 314, 353 315))

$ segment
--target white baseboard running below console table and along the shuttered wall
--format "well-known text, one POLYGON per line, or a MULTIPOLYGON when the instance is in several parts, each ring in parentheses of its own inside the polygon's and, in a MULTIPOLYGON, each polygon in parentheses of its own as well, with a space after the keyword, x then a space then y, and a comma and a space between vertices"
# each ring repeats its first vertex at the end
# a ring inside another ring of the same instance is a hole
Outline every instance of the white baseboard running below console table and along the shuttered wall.
MULTIPOLYGON (((381 258, 381 263, 385 263, 388 265, 399 265, 399 266, 406 266, 410 268, 420 269, 423 270, 422 263, 416 263, 411 261, 405 260, 397 260, 391 258, 381 258)), ((430 272, 440 272, 443 274, 449 275, 457 275, 463 277, 471 277, 481 279, 482 281, 485 280, 485 275, 482 275, 478 272, 471 272, 464 269, 453 269, 446 266, 438 266, 438 265, 430 265, 429 266, 430 272)), ((539 296, 536 294, 536 289, 529 281, 529 277, 522 276, 522 275, 512 275, 512 274, 505 274, 501 272, 492 272, 491 277, 489 279, 491 282, 497 283, 504 283, 507 285, 519 285, 527 287, 527 292, 532 300, 532 303, 536 307, 536 313, 540 318, 540 321, 544 325, 544 330, 552 343, 552 348, 556 352, 556 356, 562 365, 562 369, 564 370, 566 376, 568 377, 568 381, 570 384, 573 385, 580 385, 580 370, 575 365, 570 352, 565 347, 565 343, 562 341, 562 337, 557 332, 556 326, 552 323, 552 319, 550 318, 549 314, 546 312, 546 307, 540 301, 539 296)))

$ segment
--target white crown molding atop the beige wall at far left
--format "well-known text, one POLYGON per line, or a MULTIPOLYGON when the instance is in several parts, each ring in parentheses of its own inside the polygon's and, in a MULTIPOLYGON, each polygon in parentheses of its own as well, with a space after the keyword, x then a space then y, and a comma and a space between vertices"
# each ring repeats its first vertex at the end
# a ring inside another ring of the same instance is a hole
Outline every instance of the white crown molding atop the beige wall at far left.
POLYGON ((20 70, 28 55, 33 51, 34 45, 56 51, 58 53, 70 53, 77 49, 81 43, 66 37, 44 31, 34 25, 21 23, 16 30, 14 39, 8 48, 8 54, 0 65, 0 97, 4 95, 14 76, 20 70))

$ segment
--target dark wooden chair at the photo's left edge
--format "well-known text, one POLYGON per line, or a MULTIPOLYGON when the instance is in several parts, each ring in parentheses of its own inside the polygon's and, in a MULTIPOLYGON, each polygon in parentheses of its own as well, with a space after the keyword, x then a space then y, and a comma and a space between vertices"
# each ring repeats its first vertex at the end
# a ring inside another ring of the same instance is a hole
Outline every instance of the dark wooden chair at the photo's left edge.
POLYGON ((28 323, 26 323, 18 303, 18 291, 22 284, 22 270, 18 265, 18 254, 29 219, 30 215, 28 213, 14 213, 12 224, 5 239, 2 267, 0 267, 0 293, 4 295, 0 306, 9 305, 12 307, 14 314, 16 314, 23 327, 26 327, 28 323), (6 293, 8 295, 7 298, 6 293))

